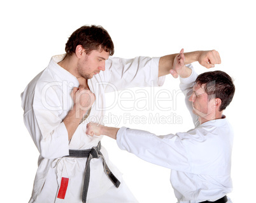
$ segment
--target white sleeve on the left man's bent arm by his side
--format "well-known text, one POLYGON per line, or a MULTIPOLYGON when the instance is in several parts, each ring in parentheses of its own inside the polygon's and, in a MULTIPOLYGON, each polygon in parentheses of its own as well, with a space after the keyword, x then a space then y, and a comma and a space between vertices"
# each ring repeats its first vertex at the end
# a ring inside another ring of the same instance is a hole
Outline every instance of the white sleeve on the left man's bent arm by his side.
POLYGON ((36 88, 34 95, 26 95, 30 96, 24 98, 24 123, 39 153, 46 159, 69 155, 68 131, 60 117, 62 96, 53 88, 36 88))

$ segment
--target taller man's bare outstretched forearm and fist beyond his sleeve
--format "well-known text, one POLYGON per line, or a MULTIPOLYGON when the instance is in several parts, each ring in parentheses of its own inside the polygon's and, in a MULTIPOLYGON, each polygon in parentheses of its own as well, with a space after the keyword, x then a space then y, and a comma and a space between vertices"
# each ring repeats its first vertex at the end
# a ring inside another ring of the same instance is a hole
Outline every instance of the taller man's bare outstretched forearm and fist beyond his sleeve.
MULTIPOLYGON (((169 74, 169 71, 173 69, 174 58, 179 54, 162 56, 159 60, 159 77, 169 74)), ((192 62, 199 62, 207 69, 215 67, 215 64, 220 64, 221 59, 218 51, 192 51, 184 53, 186 60, 185 64, 192 62)))

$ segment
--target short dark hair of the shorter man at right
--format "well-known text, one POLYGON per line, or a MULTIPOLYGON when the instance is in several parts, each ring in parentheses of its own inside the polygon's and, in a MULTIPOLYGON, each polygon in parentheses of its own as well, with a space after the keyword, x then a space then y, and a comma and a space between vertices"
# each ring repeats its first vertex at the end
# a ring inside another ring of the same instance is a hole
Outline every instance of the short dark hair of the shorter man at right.
POLYGON ((225 108, 231 103, 235 93, 235 86, 232 78, 223 71, 216 70, 212 72, 204 72, 198 75, 196 84, 206 84, 204 91, 208 95, 208 99, 220 98, 222 103, 219 111, 225 110, 225 108))

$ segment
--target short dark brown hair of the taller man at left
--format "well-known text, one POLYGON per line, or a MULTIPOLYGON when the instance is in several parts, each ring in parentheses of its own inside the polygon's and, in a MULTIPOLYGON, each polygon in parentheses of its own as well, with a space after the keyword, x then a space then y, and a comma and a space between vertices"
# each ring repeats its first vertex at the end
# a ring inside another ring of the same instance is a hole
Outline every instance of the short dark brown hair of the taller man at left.
POLYGON ((82 45, 87 54, 98 49, 109 52, 110 56, 114 54, 114 44, 110 34, 100 25, 84 25, 75 30, 66 43, 67 56, 75 53, 78 45, 82 45))

